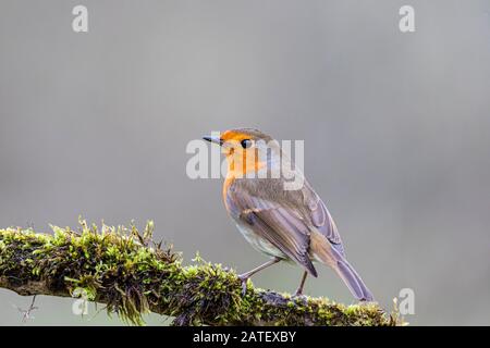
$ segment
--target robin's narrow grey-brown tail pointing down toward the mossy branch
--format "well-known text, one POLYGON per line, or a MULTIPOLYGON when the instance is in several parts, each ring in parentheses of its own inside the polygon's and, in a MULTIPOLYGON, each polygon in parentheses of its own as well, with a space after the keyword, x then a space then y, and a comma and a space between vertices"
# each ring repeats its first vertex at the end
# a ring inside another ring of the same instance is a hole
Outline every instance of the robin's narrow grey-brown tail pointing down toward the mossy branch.
POLYGON ((343 252, 341 252, 342 249, 339 250, 335 248, 335 245, 331 245, 327 238, 319 233, 311 234, 310 243, 310 250, 314 252, 315 257, 322 263, 330 265, 336 274, 339 274, 357 300, 375 300, 371 291, 367 288, 366 284, 364 284, 354 268, 347 262, 343 252))

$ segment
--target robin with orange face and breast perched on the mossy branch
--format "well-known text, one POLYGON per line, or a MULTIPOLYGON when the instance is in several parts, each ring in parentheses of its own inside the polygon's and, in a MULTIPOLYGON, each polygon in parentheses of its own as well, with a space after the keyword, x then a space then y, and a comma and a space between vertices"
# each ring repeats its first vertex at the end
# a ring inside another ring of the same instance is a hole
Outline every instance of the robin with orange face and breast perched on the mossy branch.
POLYGON ((294 296, 302 296, 308 275, 318 276, 314 262, 330 266, 358 301, 373 301, 348 263, 338 227, 326 204, 281 149, 279 141, 255 128, 234 128, 204 136, 217 144, 226 160, 224 207, 245 239, 270 260, 240 274, 242 291, 259 271, 281 261, 303 268, 294 296), (279 173, 279 175, 278 175, 279 173), (275 174, 275 175, 274 175, 275 174), (299 178, 301 187, 286 189, 299 178))

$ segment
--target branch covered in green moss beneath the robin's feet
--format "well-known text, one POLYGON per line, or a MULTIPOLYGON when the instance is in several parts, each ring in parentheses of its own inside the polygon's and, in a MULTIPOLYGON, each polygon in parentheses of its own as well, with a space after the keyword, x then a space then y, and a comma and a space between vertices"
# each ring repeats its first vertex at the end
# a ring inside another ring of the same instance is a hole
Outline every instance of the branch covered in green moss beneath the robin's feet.
POLYGON ((203 260, 184 266, 171 248, 151 241, 152 223, 99 231, 52 226, 0 229, 0 287, 20 295, 86 294, 133 324, 149 311, 175 325, 396 325, 377 304, 344 306, 253 288, 242 296, 233 271, 203 260))

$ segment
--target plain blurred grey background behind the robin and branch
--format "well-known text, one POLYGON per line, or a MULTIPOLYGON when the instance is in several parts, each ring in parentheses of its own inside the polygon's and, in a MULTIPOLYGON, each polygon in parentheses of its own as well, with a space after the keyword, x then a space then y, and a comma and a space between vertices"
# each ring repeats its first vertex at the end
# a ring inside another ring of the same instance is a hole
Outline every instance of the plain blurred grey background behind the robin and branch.
MULTIPOLYGON (((412 324, 488 325, 489 62, 487 0, 1 0, 0 226, 154 219, 186 262, 249 270, 265 257, 221 181, 186 176, 185 147, 258 127, 305 139, 306 175, 385 308, 409 287, 412 324), (403 4, 415 33, 399 30, 403 4)), ((299 276, 280 264, 254 284, 292 291, 299 276)), ((307 293, 353 301, 324 268, 307 293)), ((29 302, 0 289, 0 324, 29 302)), ((72 302, 40 297, 27 324, 121 323, 72 302)))

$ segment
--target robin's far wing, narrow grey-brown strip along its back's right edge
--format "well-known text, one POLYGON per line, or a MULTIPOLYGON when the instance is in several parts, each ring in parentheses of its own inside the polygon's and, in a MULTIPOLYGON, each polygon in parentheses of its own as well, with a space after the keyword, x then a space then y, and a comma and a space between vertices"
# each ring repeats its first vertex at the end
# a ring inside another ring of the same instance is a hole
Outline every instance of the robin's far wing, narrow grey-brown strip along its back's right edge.
POLYGON ((308 183, 305 183, 303 188, 303 199, 311 217, 313 225, 329 239, 336 250, 345 256, 342 239, 332 215, 330 215, 326 204, 308 183))

